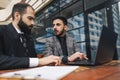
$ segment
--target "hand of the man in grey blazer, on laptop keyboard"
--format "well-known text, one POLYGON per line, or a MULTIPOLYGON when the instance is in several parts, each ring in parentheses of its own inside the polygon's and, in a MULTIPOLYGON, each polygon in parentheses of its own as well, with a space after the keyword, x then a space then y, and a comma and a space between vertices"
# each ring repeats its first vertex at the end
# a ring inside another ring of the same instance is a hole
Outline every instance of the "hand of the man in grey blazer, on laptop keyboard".
POLYGON ((87 56, 84 53, 80 53, 80 52, 76 52, 73 55, 71 55, 70 57, 68 57, 68 61, 74 61, 75 59, 86 59, 88 60, 87 56))

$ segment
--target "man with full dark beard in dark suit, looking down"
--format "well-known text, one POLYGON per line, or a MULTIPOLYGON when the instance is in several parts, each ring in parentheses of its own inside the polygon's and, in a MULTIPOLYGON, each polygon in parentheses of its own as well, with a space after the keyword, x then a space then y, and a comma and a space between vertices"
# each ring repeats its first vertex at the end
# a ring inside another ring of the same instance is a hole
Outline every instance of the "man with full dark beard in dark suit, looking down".
POLYGON ((0 69, 15 69, 60 65, 57 56, 37 58, 31 29, 34 26, 35 10, 26 3, 17 3, 12 9, 13 21, 0 27, 0 69))

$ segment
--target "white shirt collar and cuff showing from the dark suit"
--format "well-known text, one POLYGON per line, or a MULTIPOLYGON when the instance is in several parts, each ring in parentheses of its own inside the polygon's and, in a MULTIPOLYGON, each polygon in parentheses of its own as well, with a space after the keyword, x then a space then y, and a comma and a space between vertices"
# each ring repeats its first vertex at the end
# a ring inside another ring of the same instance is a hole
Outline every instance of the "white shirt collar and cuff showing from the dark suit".
MULTIPOLYGON (((23 32, 21 32, 19 29, 17 29, 16 27, 14 27, 15 29, 16 29, 16 31, 18 32, 18 33, 22 33, 23 34, 23 32)), ((36 67, 36 66, 38 66, 38 63, 39 62, 39 59, 38 58, 29 58, 29 67, 36 67)))

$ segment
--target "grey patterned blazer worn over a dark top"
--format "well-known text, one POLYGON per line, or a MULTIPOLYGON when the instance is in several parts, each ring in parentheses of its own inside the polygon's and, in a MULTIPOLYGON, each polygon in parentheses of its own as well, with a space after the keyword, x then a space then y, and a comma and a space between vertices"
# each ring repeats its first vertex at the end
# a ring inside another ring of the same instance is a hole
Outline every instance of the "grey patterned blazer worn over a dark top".
MULTIPOLYGON (((68 56, 75 52, 80 52, 80 48, 77 46, 77 43, 72 37, 68 36, 68 34, 66 34, 66 43, 68 56)), ((46 40, 46 56, 48 55, 56 55, 63 58, 62 48, 56 36, 50 37, 46 40)))

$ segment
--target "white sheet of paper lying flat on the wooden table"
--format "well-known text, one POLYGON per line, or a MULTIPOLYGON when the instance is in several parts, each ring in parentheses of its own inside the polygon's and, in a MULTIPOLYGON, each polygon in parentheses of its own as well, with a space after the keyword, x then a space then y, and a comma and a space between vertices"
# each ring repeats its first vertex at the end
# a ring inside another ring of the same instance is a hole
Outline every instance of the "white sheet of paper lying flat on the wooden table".
POLYGON ((37 68, 28 69, 28 70, 8 72, 8 73, 1 74, 0 76, 11 77, 11 76, 14 76, 15 74, 20 74, 24 77, 39 76, 41 79, 44 79, 44 80, 59 80, 77 68, 78 66, 44 66, 44 67, 37 67, 37 68))

